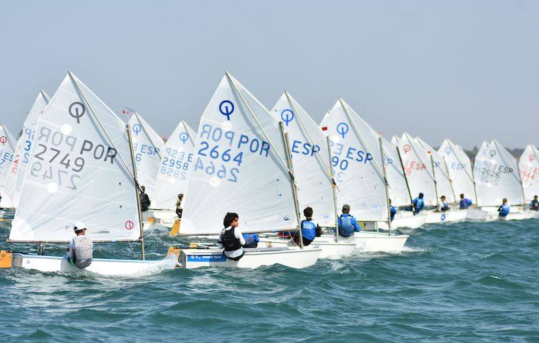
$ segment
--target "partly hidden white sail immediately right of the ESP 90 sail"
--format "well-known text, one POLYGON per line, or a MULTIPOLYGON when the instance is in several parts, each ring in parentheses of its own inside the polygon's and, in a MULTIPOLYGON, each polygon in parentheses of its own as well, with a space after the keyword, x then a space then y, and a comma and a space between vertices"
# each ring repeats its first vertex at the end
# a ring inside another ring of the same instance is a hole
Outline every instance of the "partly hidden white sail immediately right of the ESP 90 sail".
POLYGON ((411 204, 410 193, 406 185, 403 165, 398 158, 396 145, 383 139, 385 165, 387 165, 387 183, 390 187, 390 199, 393 206, 407 206, 411 204))

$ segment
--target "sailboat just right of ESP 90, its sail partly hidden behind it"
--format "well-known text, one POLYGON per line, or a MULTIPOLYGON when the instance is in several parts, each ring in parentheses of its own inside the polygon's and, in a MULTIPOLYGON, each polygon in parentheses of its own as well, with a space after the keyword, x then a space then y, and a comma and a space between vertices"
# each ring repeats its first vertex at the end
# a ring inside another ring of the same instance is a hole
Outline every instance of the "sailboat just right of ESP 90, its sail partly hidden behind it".
MULTIPOLYGON (((394 141, 394 139, 392 139, 394 141)), ((392 228, 418 228, 425 224, 427 215, 414 215, 411 211, 403 211, 411 204, 411 193, 405 176, 403 164, 400 161, 398 147, 383 139, 385 165, 387 166, 387 183, 389 184, 390 199, 397 211, 392 221, 392 228)), ((379 227, 389 229, 385 222, 379 222, 379 227)))

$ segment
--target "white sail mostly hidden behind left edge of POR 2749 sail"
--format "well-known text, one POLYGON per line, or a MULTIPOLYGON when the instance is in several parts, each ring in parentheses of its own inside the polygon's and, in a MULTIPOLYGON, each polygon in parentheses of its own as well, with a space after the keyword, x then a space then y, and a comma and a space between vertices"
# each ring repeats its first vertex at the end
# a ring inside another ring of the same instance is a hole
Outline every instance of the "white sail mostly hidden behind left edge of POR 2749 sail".
POLYGON ((49 104, 49 99, 50 97, 47 93, 44 91, 39 92, 23 124, 23 134, 19 137, 19 141, 17 141, 15 147, 12 167, 5 181, 5 193, 12 199, 14 207, 19 204, 21 187, 23 187, 23 179, 28 167, 30 153, 32 152, 32 144, 34 143, 36 124, 39 116, 43 113, 47 104, 49 104))

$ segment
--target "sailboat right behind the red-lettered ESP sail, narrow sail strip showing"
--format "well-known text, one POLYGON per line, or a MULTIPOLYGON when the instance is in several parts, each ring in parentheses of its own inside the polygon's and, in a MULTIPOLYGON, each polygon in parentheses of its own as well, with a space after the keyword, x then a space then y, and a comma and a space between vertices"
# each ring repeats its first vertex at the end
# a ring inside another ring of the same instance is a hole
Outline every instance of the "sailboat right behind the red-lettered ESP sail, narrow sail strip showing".
POLYGON ((420 137, 416 137, 416 141, 430 156, 431 165, 430 169, 428 167, 427 169, 429 169, 434 179, 437 209, 440 209, 440 197, 442 196, 446 197, 446 202, 448 202, 448 205, 450 206, 449 211, 429 211, 427 214, 427 224, 462 222, 463 220, 466 220, 466 215, 468 214, 466 211, 456 211, 457 196, 455 195, 453 180, 451 180, 451 177, 449 176, 447 162, 445 161, 444 156, 439 154, 438 151, 431 147, 427 142, 420 139, 420 137))

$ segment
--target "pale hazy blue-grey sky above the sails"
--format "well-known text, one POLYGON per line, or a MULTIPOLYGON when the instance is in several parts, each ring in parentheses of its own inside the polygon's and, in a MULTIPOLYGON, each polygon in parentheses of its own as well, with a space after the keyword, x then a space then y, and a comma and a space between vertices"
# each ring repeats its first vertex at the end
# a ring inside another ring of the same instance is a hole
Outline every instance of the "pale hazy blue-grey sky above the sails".
POLYGON ((228 70, 319 122, 338 96, 386 138, 539 144, 539 1, 3 1, 0 120, 19 134, 71 69, 163 137, 228 70))

